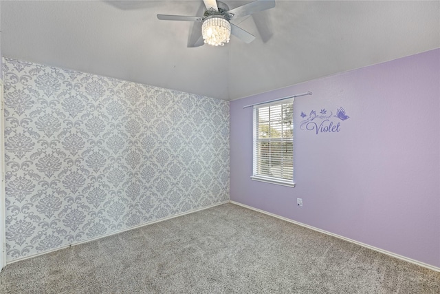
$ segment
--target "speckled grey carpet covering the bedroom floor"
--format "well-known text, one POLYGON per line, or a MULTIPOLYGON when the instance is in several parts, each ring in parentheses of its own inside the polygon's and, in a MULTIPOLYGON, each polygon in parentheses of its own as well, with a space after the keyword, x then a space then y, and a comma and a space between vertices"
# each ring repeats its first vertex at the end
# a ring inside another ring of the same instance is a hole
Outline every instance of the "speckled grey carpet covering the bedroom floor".
POLYGON ((440 273, 234 204, 9 264, 1 293, 440 293, 440 273))

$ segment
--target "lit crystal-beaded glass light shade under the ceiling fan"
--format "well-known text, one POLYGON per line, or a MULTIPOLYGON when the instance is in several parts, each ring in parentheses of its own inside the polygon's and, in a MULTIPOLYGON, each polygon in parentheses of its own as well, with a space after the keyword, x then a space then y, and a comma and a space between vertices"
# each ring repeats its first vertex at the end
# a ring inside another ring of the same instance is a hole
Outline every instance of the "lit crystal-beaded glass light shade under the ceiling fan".
POLYGON ((223 46, 229 42, 231 36, 231 25, 222 17, 211 17, 203 21, 201 35, 205 43, 213 46, 223 46))

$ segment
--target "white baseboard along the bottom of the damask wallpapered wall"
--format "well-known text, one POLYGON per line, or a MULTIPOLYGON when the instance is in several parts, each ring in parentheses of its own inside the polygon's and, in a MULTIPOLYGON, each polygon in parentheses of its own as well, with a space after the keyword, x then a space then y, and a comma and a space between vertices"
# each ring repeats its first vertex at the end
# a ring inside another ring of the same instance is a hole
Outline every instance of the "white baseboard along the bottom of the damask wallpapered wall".
POLYGON ((125 232, 125 231, 130 231, 130 230, 133 230, 133 229, 138 229, 140 227, 145 227, 145 226, 148 226, 149 224, 155 224, 156 222, 163 222, 164 220, 170 220, 172 218, 177 218, 179 216, 184 216, 186 214, 195 213, 197 211, 205 210, 205 209, 208 209, 208 208, 211 208, 211 207, 216 207, 216 206, 219 206, 219 205, 225 204, 225 203, 229 203, 229 200, 223 201, 223 202, 219 202, 219 203, 216 203, 216 204, 212 204, 212 205, 210 205, 208 207, 201 207, 199 209, 193 209, 193 210, 190 210, 190 211, 186 211, 184 213, 178 213, 178 214, 175 214, 174 216, 168 216, 168 218, 161 218, 160 220, 153 220, 152 222, 146 222, 144 224, 138 224, 135 227, 129 227, 127 229, 123 229, 123 230, 120 230, 120 231, 114 231, 112 233, 108 233, 108 234, 105 234, 105 235, 100 235, 98 237, 87 239, 87 240, 84 240, 84 241, 80 241, 80 242, 77 242, 77 243, 74 243, 74 244, 69 244, 69 245, 61 246, 61 247, 58 247, 56 249, 52 249, 52 250, 44 251, 44 252, 41 252, 41 253, 36 253, 36 254, 33 254, 33 255, 25 256, 23 258, 17 258, 16 260, 11 260, 9 262, 6 262, 6 264, 13 264, 14 262, 19 262, 21 260, 27 260, 29 258, 36 258, 37 256, 45 255, 47 253, 51 253, 51 252, 58 251, 58 250, 61 250, 61 249, 66 249, 66 248, 69 248, 70 246, 76 246, 76 245, 79 245, 79 244, 84 244, 84 243, 96 241, 96 240, 99 240, 101 238, 109 237, 111 235, 116 235, 118 233, 122 233, 122 232, 125 232))

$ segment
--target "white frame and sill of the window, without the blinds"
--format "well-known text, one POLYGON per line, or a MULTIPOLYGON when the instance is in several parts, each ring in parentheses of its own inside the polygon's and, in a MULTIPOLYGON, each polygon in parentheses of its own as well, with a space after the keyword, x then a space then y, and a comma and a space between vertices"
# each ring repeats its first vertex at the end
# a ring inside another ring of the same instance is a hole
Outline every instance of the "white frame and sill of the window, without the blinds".
MULTIPOLYGON (((259 182, 268 182, 270 184, 276 184, 276 185, 283 185, 287 187, 295 187, 294 182, 294 167, 293 167, 293 161, 294 161, 294 114, 292 111, 292 178, 278 178, 278 177, 272 177, 272 176, 265 176, 263 174, 258 174, 257 172, 257 132, 259 132, 259 125, 258 125, 258 118, 257 118, 257 110, 263 107, 272 107, 275 105, 282 105, 286 103, 292 103, 292 109, 294 105, 294 97, 292 98, 286 98, 281 101, 273 101, 268 103, 261 103, 258 105, 254 105, 252 109, 252 176, 250 177, 252 180, 256 180, 259 182)), ((270 121, 273 121, 270 119, 270 121)), ((269 140, 270 142, 274 142, 277 140, 269 140)), ((278 138, 278 141, 279 138, 278 138)), ((285 142, 285 140, 281 140, 282 142, 285 142)))

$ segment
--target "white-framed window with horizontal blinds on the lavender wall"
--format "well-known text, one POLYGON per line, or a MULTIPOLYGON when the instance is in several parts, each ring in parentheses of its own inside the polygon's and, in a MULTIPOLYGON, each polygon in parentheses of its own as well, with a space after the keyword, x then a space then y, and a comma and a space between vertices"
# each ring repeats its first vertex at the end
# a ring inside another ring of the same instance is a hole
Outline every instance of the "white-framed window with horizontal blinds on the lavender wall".
POLYGON ((254 106, 252 180, 295 187, 294 99, 254 106))

